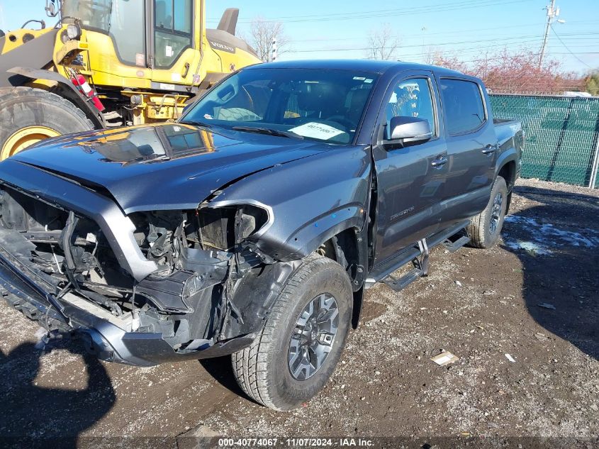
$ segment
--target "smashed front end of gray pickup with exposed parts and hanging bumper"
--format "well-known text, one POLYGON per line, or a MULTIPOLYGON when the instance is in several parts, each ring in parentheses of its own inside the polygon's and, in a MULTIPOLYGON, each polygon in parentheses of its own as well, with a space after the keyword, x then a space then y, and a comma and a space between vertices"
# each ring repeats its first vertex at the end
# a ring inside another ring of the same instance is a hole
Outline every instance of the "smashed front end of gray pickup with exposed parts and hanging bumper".
POLYGON ((125 216, 101 188, 35 172, 38 187, 0 185, 0 292, 48 330, 80 331, 103 360, 236 352, 298 263, 256 245, 267 206, 205 201, 125 216))

